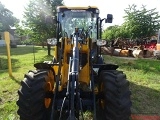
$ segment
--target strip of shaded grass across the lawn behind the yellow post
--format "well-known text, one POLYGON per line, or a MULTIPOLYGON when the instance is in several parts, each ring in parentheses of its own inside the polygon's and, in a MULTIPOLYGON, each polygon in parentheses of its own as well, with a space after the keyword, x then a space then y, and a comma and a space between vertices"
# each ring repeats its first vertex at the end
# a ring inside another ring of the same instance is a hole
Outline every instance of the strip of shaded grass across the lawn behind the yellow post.
MULTIPOLYGON (((24 55, 29 53, 36 53, 39 50, 46 49, 42 47, 33 47, 33 46, 22 46, 17 48, 11 48, 11 55, 24 55)), ((0 55, 7 55, 7 50, 5 47, 0 47, 0 55)))

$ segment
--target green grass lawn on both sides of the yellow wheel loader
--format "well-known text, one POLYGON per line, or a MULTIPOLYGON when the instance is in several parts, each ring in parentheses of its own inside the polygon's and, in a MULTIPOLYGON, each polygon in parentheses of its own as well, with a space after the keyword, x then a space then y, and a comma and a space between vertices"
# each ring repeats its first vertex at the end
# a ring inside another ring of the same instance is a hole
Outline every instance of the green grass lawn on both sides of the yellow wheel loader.
MULTIPOLYGON (((47 49, 42 47, 12 48, 13 77, 9 77, 6 53, 6 48, 0 47, 0 120, 17 120, 16 101, 20 81, 28 70, 34 69, 34 61, 50 60, 51 57, 47 56, 47 49)), ((160 115, 160 61, 126 60, 114 56, 104 56, 104 59, 106 63, 118 64, 119 70, 127 74, 132 92, 132 113, 160 115)))

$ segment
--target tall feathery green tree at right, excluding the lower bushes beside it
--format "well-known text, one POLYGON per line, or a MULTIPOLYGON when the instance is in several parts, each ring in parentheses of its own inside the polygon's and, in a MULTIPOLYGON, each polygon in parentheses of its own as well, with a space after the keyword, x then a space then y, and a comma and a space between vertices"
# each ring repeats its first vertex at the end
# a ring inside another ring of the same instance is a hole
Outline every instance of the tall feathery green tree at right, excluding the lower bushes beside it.
POLYGON ((147 10, 144 5, 138 10, 134 4, 124 10, 124 25, 132 38, 146 38, 156 34, 160 28, 160 16, 155 10, 147 10))

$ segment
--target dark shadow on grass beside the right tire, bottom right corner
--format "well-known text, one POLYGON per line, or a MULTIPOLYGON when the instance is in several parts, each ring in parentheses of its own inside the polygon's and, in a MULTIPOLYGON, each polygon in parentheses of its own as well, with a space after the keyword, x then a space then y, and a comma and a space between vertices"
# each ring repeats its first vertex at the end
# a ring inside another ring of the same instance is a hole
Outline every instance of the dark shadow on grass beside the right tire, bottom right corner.
POLYGON ((130 83, 132 114, 160 115, 160 89, 155 89, 130 83))

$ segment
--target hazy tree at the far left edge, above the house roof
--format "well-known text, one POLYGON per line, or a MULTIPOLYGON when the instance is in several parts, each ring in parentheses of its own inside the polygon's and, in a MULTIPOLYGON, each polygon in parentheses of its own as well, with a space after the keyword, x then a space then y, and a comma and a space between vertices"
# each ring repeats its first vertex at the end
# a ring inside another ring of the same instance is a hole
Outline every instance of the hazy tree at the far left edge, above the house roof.
POLYGON ((19 20, 0 2, 0 32, 8 31, 19 20))

